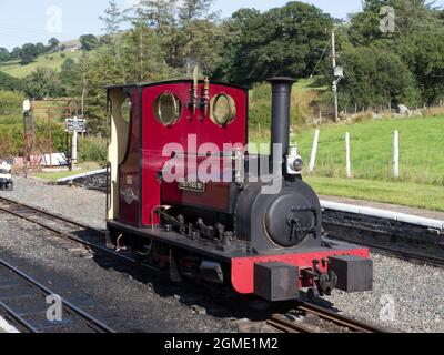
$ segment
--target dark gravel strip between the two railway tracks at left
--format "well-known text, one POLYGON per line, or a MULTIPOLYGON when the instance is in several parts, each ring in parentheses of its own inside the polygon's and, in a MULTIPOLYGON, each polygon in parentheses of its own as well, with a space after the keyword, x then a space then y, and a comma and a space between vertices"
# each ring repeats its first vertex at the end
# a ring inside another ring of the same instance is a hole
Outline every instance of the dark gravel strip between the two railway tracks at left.
POLYGON ((232 318, 204 308, 203 297, 164 286, 150 275, 109 268, 103 258, 32 223, 0 213, 0 258, 118 332, 239 331, 232 318))

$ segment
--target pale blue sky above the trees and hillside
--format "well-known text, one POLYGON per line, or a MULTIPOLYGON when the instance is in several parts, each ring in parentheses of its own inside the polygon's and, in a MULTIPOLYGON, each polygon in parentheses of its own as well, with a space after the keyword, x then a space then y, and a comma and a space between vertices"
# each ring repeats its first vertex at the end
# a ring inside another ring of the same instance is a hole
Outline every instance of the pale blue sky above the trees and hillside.
MULTIPOLYGON (((137 0, 118 0, 128 7, 137 0)), ((284 6, 289 0, 215 0, 214 10, 221 17, 230 17, 240 8, 261 11, 284 6)), ((335 18, 345 19, 361 9, 361 0, 303 0, 335 18)), ((436 4, 444 4, 438 0, 436 4)), ((24 43, 47 43, 51 37, 61 41, 73 40, 81 34, 100 34, 99 16, 108 0, 0 0, 0 47, 11 50, 24 43)))

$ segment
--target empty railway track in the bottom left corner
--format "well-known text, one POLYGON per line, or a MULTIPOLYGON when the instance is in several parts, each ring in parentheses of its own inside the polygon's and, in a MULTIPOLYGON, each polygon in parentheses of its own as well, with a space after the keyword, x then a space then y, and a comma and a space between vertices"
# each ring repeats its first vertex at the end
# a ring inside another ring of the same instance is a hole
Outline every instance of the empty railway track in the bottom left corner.
POLYGON ((3 260, 0 260, 0 314, 28 333, 114 333, 3 260), (54 313, 49 318, 47 312, 53 301, 59 302, 60 317, 54 313))

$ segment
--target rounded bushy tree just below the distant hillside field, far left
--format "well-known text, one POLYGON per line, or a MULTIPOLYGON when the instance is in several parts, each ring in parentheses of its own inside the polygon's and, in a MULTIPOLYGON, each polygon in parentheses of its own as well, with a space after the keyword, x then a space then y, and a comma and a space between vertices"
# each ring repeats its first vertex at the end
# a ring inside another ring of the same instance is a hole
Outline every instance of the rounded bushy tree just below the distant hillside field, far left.
POLYGON ((61 92, 59 74, 49 68, 37 68, 24 81, 27 94, 33 99, 53 98, 61 92))

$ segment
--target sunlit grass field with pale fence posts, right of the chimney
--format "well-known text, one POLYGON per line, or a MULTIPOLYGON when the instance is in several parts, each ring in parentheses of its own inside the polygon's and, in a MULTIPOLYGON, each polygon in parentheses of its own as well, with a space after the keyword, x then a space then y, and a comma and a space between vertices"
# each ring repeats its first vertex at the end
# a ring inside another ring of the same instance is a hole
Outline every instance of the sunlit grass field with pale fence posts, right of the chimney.
MULTIPOLYGON (((444 116, 427 116, 324 125, 315 172, 307 181, 320 194, 444 211, 443 124, 444 116), (401 141, 398 179, 392 173, 394 130, 400 131, 401 141), (346 132, 352 139, 353 179, 345 178, 346 132)), ((314 130, 292 134, 306 165, 313 135, 314 130)), ((268 142, 269 136, 269 132, 253 131, 250 138, 268 142)))

